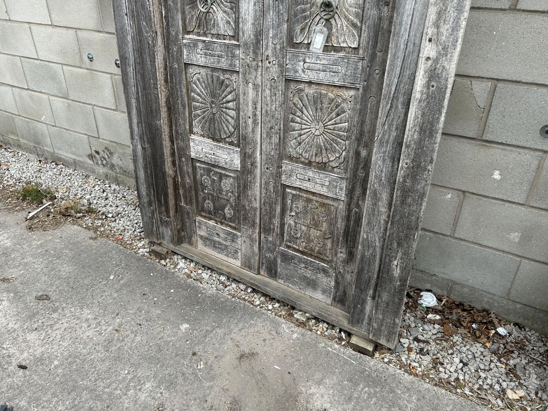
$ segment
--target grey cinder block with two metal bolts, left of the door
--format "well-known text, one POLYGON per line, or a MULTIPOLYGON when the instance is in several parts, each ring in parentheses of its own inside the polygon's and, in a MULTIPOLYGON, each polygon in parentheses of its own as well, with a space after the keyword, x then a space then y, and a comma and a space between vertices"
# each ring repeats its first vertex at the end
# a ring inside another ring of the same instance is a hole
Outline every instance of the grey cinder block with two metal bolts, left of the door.
POLYGON ((120 69, 114 64, 114 60, 118 58, 115 35, 78 31, 78 43, 80 44, 80 54, 82 55, 84 67, 110 73, 120 73, 120 69), (93 54, 93 61, 86 58, 88 53, 93 54))

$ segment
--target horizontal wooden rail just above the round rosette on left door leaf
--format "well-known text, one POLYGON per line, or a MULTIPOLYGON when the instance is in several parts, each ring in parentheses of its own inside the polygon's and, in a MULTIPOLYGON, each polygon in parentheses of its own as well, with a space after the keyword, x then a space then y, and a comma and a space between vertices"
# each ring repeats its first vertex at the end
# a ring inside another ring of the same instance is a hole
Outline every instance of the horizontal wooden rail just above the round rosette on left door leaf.
POLYGON ((185 38, 182 44, 185 62, 239 70, 238 44, 191 38, 185 38))

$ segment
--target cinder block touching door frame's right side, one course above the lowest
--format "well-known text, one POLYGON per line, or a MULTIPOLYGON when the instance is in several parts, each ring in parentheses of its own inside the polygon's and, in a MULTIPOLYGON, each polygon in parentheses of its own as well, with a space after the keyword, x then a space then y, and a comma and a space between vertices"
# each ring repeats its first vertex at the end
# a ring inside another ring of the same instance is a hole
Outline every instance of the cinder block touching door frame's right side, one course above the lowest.
POLYGON ((519 262, 511 255, 422 232, 413 268, 504 296, 519 262))

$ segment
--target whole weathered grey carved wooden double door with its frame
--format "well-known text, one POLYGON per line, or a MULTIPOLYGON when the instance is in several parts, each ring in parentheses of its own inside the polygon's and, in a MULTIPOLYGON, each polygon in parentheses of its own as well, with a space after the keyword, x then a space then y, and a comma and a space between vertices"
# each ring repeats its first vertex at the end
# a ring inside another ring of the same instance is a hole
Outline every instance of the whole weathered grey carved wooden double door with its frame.
POLYGON ((145 234, 393 346, 470 0, 116 0, 145 234))

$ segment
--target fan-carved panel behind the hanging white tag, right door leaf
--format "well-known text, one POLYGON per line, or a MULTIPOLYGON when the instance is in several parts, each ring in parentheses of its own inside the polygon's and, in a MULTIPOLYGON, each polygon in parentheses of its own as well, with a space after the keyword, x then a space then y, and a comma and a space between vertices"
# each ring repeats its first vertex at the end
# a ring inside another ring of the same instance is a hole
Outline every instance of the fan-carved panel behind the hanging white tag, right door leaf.
MULTIPOLYGON (((294 0, 293 42, 310 44, 314 28, 322 23, 318 13, 321 0, 294 0)), ((323 6, 325 7, 325 6, 323 6)), ((362 24, 363 1, 339 0, 335 15, 325 22, 326 45, 357 48, 362 24)))

